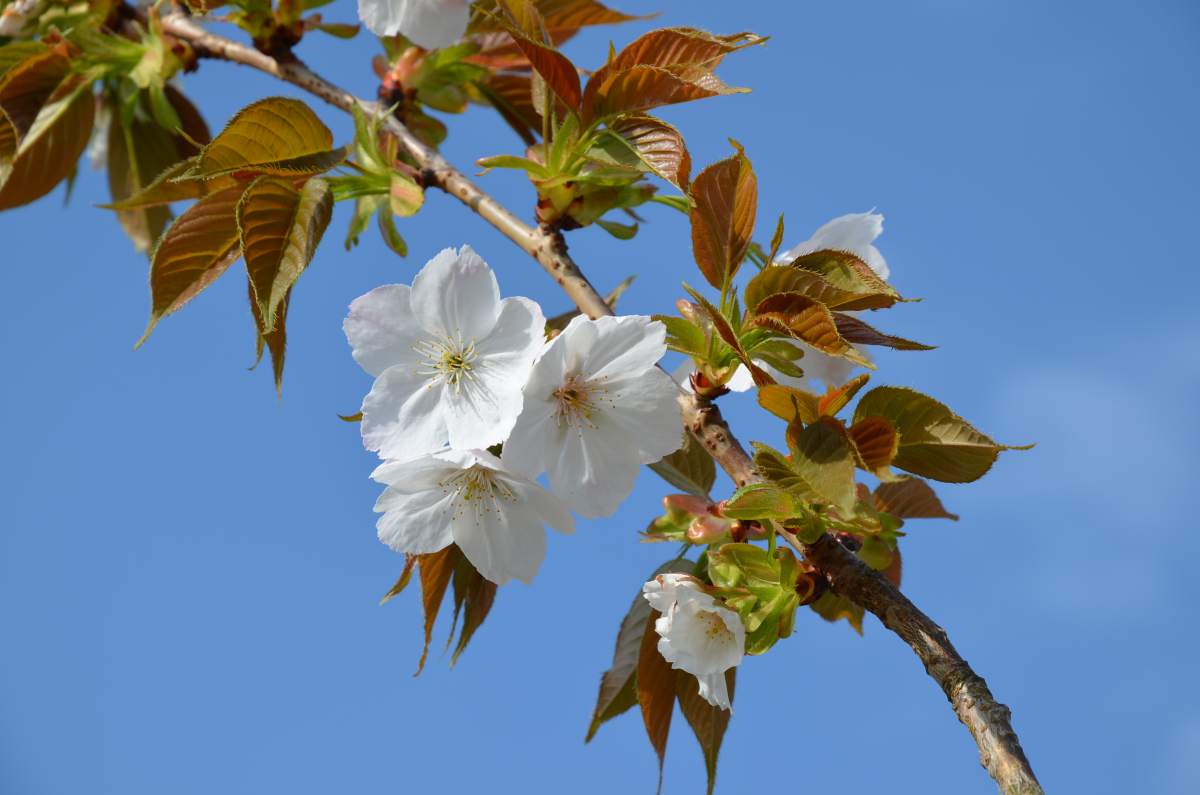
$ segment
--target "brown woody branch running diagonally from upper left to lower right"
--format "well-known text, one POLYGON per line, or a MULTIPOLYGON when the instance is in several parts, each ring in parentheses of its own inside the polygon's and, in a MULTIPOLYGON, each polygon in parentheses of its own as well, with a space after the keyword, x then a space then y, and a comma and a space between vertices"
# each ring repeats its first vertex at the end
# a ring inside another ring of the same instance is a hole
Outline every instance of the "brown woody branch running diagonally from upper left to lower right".
MULTIPOLYGON (((187 41, 200 58, 217 58, 257 68, 342 110, 349 112, 359 106, 371 115, 383 113, 378 102, 361 100, 340 89, 294 56, 272 58, 215 36, 179 14, 167 16, 162 22, 166 32, 187 41)), ((418 163, 426 185, 439 187, 457 198, 536 259, 581 312, 592 318, 613 313, 604 297, 571 259, 562 233, 545 227, 534 228, 521 221, 446 162, 439 153, 418 139, 395 116, 388 116, 386 128, 418 163)), ((679 402, 686 429, 737 485, 762 479, 715 405, 690 394, 680 395, 679 402)), ((925 670, 942 687, 959 719, 971 730, 979 746, 979 760, 996 779, 1001 791, 1006 795, 1039 795, 1042 788, 1021 751, 1016 733, 1013 731, 1008 707, 995 700, 986 682, 971 670, 950 645, 946 632, 832 536, 822 536, 815 544, 800 544, 786 531, 784 537, 824 574, 830 587, 870 610, 884 627, 912 646, 925 664, 925 670)))

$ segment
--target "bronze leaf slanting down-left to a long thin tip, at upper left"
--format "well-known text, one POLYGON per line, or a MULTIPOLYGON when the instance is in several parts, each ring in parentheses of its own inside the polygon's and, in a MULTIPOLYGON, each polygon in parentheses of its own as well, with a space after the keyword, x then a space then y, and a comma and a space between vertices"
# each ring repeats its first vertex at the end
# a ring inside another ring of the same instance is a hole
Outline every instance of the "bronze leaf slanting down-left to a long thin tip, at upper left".
POLYGON ((163 234, 150 262, 150 322, 139 347, 167 315, 196 298, 241 253, 235 217, 242 187, 205 196, 163 234))

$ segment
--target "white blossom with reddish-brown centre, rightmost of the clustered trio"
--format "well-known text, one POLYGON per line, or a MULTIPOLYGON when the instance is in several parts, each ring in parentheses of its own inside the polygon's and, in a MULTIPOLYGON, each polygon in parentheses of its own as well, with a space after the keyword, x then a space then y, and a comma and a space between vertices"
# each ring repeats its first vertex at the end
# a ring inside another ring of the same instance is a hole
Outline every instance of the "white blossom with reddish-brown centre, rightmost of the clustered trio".
POLYGON ((504 462, 536 477, 582 516, 612 514, 643 464, 683 444, 679 388, 655 363, 666 329, 646 316, 575 317, 524 388, 504 462))

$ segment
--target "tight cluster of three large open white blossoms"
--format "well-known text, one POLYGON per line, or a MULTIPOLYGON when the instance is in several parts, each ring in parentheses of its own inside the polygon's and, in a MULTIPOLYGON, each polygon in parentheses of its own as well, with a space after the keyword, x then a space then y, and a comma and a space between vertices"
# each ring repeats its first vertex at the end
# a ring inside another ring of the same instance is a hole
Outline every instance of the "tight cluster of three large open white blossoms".
POLYGON ((361 429, 384 459, 380 540, 414 555, 454 543, 488 580, 528 582, 544 525, 612 514, 643 464, 679 448, 661 323, 576 317, 548 343, 545 328, 538 304, 500 298, 469 246, 350 304, 346 336, 376 377, 361 429))

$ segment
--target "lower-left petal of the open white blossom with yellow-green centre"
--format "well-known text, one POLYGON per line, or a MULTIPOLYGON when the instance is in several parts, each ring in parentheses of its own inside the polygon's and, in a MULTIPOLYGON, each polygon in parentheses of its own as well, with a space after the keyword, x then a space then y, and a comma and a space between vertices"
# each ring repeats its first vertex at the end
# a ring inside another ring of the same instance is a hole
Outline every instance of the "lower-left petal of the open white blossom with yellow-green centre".
POLYGON ((445 388, 390 367, 362 399, 362 443, 380 458, 408 460, 445 447, 445 388))

